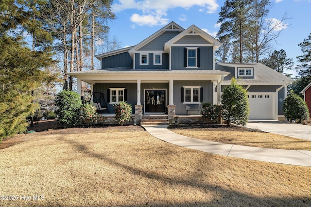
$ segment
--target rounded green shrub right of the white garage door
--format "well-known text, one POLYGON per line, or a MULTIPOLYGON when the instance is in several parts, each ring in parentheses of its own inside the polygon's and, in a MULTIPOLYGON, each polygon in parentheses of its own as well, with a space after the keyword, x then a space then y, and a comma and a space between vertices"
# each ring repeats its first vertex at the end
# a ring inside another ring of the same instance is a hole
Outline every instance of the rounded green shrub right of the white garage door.
POLYGON ((293 120, 302 122, 309 119, 309 109, 306 102, 291 91, 288 96, 284 99, 283 103, 284 116, 293 120))

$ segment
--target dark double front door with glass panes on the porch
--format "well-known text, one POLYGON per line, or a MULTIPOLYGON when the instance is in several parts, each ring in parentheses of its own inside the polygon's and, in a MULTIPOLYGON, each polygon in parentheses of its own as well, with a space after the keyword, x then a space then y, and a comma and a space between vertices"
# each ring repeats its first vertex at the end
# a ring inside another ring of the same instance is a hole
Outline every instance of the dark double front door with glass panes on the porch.
POLYGON ((146 90, 146 112, 165 112, 165 90, 146 90))

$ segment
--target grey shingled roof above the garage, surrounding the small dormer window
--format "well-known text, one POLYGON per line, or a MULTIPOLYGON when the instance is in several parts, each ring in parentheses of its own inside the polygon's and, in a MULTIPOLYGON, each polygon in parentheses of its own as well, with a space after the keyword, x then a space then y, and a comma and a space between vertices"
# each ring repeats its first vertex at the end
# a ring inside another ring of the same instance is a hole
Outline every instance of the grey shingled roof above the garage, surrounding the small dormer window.
MULTIPOLYGON (((242 79, 243 84, 249 85, 287 85, 293 82, 293 79, 284 76, 283 74, 265 66, 261 63, 217 63, 215 65, 215 70, 225 70, 225 67, 252 67, 254 68, 254 79, 242 79)), ((225 77, 223 81, 224 85, 229 85, 231 83, 232 75, 225 77)))

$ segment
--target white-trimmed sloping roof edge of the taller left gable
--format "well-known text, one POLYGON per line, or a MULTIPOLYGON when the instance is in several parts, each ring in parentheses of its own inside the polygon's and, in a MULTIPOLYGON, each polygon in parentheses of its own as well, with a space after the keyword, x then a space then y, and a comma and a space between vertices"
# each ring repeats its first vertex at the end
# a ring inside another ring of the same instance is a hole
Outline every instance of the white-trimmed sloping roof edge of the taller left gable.
POLYGON ((158 30, 157 32, 155 32, 151 36, 147 37, 146 39, 144 39, 143 41, 138 43, 136 46, 134 46, 133 48, 131 48, 129 50, 129 53, 133 57, 133 54, 135 53, 135 51, 137 51, 139 48, 142 48, 143 46, 145 46, 146 44, 148 44, 149 42, 151 42, 156 37, 160 36, 162 33, 166 32, 166 31, 182 32, 184 30, 185 30, 184 28, 182 28, 181 26, 179 26, 178 24, 176 24, 175 22, 172 21, 168 25, 164 26, 163 28, 161 28, 160 30, 158 30))

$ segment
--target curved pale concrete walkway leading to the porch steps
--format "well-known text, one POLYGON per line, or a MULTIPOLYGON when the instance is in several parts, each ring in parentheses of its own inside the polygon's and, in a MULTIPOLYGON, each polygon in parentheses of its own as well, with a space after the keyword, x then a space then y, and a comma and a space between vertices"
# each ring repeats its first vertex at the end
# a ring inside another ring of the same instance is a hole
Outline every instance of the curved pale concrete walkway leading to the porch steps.
POLYGON ((149 134, 160 140, 190 149, 234 158, 311 166, 311 151, 307 150, 268 149, 216 143, 176 134, 167 129, 167 125, 144 125, 143 127, 149 134))

